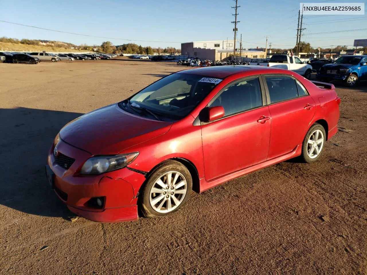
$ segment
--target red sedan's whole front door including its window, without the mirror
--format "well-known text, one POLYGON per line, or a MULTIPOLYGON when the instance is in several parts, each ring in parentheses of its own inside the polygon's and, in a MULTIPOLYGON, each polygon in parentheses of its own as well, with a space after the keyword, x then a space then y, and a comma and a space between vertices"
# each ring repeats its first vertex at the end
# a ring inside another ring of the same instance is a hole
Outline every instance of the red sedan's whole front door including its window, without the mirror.
POLYGON ((208 105, 223 106, 225 116, 201 126, 206 180, 266 160, 271 119, 261 86, 258 77, 243 78, 208 105))

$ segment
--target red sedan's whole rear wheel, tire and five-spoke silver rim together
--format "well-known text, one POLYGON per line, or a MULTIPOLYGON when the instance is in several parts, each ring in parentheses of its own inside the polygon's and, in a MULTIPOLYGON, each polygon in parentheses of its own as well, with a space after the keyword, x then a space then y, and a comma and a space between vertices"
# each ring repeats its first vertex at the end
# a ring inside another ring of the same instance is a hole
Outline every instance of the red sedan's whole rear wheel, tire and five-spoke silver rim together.
POLYGON ((326 142, 326 133, 324 127, 318 123, 313 124, 311 128, 308 130, 305 139, 302 143, 301 156, 303 160, 307 163, 317 161, 317 159, 319 159, 320 155, 324 151, 325 142, 326 142), (317 149, 315 146, 317 147, 317 149))

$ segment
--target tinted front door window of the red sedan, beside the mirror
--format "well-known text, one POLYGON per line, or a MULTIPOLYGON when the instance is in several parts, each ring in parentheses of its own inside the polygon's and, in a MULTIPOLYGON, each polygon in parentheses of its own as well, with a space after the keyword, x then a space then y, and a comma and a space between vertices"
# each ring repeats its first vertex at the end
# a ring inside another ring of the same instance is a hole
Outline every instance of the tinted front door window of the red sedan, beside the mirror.
POLYGON ((209 107, 222 106, 225 115, 262 106, 259 78, 246 79, 226 88, 209 107))

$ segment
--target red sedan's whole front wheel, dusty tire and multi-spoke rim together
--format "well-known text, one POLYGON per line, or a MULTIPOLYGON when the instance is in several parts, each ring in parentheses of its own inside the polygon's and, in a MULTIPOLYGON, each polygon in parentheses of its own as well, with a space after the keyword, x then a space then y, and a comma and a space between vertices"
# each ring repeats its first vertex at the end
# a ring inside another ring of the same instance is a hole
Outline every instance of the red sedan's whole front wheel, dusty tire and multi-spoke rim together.
POLYGON ((147 218, 167 216, 185 205, 191 190, 192 177, 189 170, 178 161, 164 161, 152 170, 143 184, 139 210, 147 218))

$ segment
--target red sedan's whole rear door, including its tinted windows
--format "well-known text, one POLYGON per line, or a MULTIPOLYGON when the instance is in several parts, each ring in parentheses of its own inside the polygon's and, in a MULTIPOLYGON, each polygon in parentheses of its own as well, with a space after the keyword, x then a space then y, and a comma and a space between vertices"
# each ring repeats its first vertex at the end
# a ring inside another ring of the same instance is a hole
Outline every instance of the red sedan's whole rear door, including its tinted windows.
POLYGON ((272 129, 268 159, 290 153, 302 143, 316 112, 306 88, 287 74, 263 75, 272 129))

